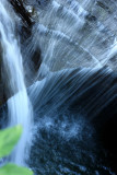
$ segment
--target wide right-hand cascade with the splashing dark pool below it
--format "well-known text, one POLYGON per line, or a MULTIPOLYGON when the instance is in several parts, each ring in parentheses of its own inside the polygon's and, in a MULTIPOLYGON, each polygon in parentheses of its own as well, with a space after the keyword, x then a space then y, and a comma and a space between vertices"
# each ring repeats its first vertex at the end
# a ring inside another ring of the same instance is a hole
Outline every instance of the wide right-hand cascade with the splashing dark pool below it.
POLYGON ((31 166, 42 175, 115 174, 94 131, 117 112, 114 16, 102 21, 93 0, 25 2, 37 11, 26 57, 42 55, 39 81, 28 89, 36 124, 31 166))

